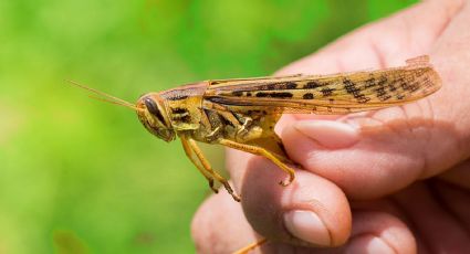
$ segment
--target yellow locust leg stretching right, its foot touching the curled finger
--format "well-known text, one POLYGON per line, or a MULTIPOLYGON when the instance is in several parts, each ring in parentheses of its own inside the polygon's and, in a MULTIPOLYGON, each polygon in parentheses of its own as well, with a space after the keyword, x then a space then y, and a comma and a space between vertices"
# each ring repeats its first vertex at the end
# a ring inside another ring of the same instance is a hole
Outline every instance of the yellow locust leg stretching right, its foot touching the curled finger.
POLYGON ((295 179, 295 171, 293 169, 291 169, 289 166, 286 166, 285 163, 283 163, 274 155, 272 155, 271 152, 269 152, 264 148, 252 146, 252 145, 247 145, 247 144, 240 144, 240 142, 236 142, 236 141, 232 141, 232 140, 229 140, 229 139, 220 139, 219 144, 222 145, 222 146, 226 146, 226 147, 237 149, 237 150, 248 151, 248 152, 253 154, 253 155, 262 156, 262 157, 271 160, 274 165, 280 167, 284 172, 289 173, 288 179, 279 182, 279 184, 281 184, 283 187, 291 184, 291 182, 294 181, 294 179, 295 179))

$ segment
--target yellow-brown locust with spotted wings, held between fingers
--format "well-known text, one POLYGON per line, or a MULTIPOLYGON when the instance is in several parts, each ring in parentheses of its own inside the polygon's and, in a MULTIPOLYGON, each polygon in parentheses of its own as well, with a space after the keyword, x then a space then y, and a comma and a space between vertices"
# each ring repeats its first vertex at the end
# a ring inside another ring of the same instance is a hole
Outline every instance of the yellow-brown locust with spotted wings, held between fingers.
POLYGON ((101 100, 134 109, 144 127, 169 142, 180 139, 187 157, 218 192, 219 182, 236 201, 228 180, 206 159, 198 142, 222 145, 262 156, 286 173, 279 183, 295 179, 281 138, 274 131, 282 114, 349 114, 393 107, 424 98, 441 87, 429 57, 405 66, 330 75, 290 75, 197 82, 147 93, 130 104, 85 88, 101 100))

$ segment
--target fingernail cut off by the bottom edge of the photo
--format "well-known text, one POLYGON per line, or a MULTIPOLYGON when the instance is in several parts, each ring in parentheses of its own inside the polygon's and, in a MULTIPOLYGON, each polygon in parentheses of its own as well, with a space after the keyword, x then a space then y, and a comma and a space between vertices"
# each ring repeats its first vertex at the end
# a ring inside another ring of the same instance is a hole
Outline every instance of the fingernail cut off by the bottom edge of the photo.
POLYGON ((365 235, 353 239, 346 247, 347 254, 356 253, 396 253, 384 240, 375 235, 365 235))

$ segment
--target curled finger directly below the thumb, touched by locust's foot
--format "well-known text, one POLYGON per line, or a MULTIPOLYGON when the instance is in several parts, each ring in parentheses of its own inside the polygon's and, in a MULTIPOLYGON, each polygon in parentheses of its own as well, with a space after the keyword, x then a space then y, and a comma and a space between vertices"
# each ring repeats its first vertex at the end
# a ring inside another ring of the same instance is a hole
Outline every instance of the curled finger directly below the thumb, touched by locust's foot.
POLYGON ((247 167, 241 202, 247 220, 258 233, 270 241, 295 245, 331 247, 346 242, 351 211, 340 188, 302 170, 293 183, 281 187, 276 182, 285 173, 258 157, 252 157, 247 167))

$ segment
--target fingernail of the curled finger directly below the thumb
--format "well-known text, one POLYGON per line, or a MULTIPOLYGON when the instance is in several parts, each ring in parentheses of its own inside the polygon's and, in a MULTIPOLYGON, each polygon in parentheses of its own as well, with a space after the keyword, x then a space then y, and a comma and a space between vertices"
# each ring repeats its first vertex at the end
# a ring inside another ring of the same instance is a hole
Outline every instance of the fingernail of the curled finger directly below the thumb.
POLYGON ((295 237, 321 246, 331 243, 330 232, 323 221, 311 211, 291 211, 284 214, 284 224, 295 237))

